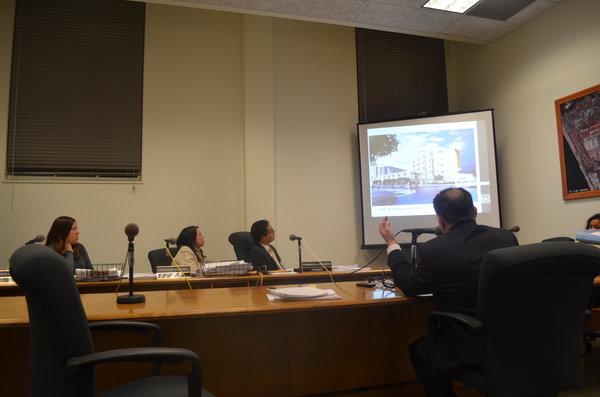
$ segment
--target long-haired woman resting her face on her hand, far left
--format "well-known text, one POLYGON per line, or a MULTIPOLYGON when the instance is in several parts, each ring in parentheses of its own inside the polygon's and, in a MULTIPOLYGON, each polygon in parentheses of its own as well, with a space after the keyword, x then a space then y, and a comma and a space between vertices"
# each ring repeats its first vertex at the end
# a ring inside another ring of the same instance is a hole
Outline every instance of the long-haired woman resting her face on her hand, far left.
POLYGON ((79 226, 70 216, 59 216, 52 222, 46 245, 62 255, 72 271, 92 269, 92 263, 83 244, 79 243, 79 226))

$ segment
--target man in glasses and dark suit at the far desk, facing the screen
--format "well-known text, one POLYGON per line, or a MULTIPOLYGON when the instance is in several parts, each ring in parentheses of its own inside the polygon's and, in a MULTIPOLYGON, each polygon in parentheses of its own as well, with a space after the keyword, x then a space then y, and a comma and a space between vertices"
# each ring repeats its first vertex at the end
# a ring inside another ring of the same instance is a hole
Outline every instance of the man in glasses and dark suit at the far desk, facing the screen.
POLYGON ((262 219, 252 224, 250 234, 256 245, 250 249, 245 261, 252 263, 255 270, 280 270, 281 257, 275 247, 271 245, 275 240, 275 230, 269 221, 262 219))

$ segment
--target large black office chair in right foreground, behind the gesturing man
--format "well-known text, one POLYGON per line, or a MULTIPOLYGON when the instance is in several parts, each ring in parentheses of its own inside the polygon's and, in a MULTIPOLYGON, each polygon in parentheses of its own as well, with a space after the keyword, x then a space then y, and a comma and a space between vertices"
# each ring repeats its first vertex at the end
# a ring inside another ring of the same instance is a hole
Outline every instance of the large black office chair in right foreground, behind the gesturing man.
MULTIPOLYGON (((476 337, 480 366, 447 371, 491 396, 554 396, 580 386, 584 309, 600 250, 587 244, 548 242, 488 253, 481 266, 477 318, 432 312, 434 357, 445 332, 460 326, 476 337)), ((446 342, 446 343, 444 343, 446 342)))

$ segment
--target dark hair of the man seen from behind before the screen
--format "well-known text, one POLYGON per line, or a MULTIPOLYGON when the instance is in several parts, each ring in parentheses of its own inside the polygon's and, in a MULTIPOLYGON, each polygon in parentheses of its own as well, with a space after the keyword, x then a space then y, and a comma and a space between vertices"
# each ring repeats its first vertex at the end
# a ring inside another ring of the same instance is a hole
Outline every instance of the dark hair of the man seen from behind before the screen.
POLYGON ((450 187, 433 199, 435 213, 451 225, 474 220, 473 198, 462 187, 450 187))

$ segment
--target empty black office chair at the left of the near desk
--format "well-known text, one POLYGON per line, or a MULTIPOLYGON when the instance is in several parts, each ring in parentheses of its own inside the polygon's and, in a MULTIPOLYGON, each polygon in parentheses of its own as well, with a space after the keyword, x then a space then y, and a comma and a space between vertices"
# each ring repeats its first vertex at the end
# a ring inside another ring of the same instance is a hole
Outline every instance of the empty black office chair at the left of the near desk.
MULTIPOLYGON (((88 324, 72 272, 65 259, 43 245, 28 245, 11 256, 10 274, 23 288, 29 311, 31 395, 94 395, 95 365, 112 362, 152 362, 152 376, 110 389, 101 396, 201 396, 202 369, 196 353, 187 349, 143 347, 94 352, 90 331, 152 332, 155 324, 103 321, 88 324), (160 363, 189 362, 185 376, 159 376, 160 363)), ((9 380, 7 380, 9 381, 9 380)))

